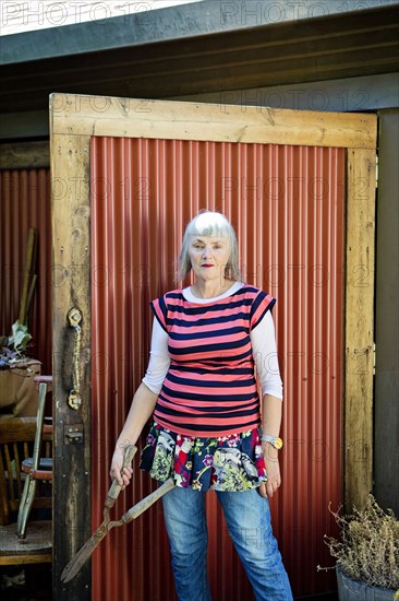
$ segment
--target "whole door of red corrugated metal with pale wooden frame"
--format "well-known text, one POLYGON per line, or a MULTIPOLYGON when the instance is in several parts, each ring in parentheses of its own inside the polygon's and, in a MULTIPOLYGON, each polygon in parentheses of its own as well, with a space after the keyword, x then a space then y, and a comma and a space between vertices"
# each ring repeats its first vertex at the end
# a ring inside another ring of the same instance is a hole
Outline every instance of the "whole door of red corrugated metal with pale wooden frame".
MULTIPOLYGON (((89 566, 59 577, 101 519, 147 361, 148 300, 176 286, 182 232, 202 208, 228 214, 246 281, 278 298, 288 444, 275 530, 297 594, 334 586, 315 576, 328 500, 361 504, 371 488, 375 140, 374 116, 51 97, 57 599, 173 599, 160 506, 104 541, 93 588, 89 566)), ((152 487, 137 470, 119 507, 152 487)), ((208 521, 215 598, 249 597, 211 495, 208 521)))

